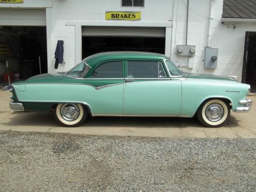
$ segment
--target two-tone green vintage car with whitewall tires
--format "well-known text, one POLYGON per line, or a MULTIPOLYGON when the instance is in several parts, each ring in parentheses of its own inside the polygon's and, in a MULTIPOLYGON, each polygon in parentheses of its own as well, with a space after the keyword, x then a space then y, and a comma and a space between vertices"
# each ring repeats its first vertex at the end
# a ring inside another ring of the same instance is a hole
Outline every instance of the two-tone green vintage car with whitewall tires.
POLYGON ((248 84, 235 77, 186 73, 165 55, 105 52, 89 56, 68 72, 13 83, 10 108, 54 111, 63 126, 91 116, 193 117, 222 126, 233 112, 248 112, 248 84))

